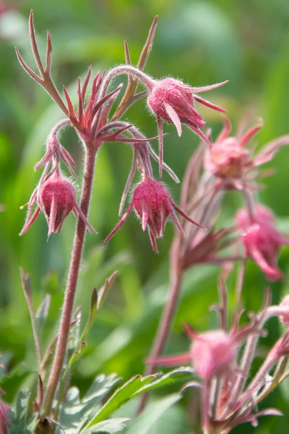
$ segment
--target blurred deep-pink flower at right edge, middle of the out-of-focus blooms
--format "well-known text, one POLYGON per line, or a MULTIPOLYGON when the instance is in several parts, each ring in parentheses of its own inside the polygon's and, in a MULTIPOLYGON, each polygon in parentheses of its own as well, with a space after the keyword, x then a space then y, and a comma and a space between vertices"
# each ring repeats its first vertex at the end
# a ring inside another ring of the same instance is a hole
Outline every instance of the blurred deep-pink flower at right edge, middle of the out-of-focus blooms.
POLYGON ((242 230, 242 243, 245 252, 263 270, 272 282, 282 277, 277 266, 281 246, 289 246, 289 238, 280 234, 274 227, 274 215, 262 206, 256 207, 254 216, 247 209, 241 209, 236 215, 238 227, 242 230))

